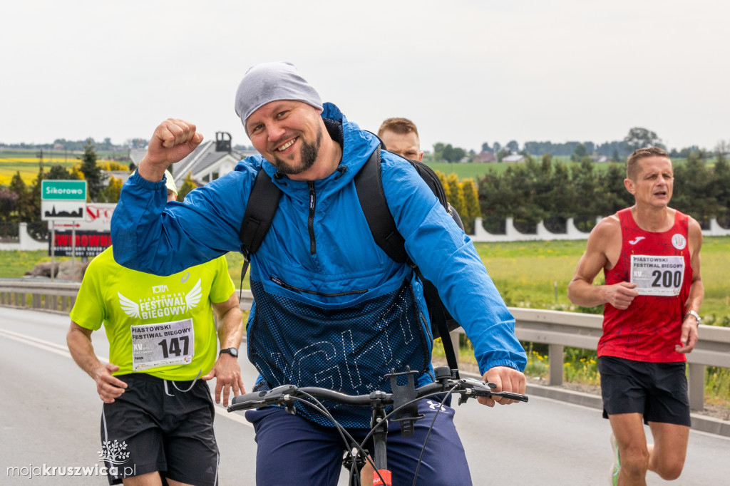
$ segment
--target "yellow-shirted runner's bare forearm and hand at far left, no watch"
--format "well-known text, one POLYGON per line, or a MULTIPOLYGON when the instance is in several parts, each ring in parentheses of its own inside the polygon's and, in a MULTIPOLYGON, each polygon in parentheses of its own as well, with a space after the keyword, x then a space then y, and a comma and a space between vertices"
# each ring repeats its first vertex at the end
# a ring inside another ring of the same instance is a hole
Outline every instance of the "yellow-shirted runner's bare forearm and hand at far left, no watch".
POLYGON ((119 366, 101 363, 99 358, 96 358, 91 344, 91 333, 91 329, 71 321, 69 332, 66 333, 66 344, 76 364, 96 382, 96 393, 99 393, 101 401, 112 404, 115 398, 124 393, 127 384, 112 376, 119 366))

